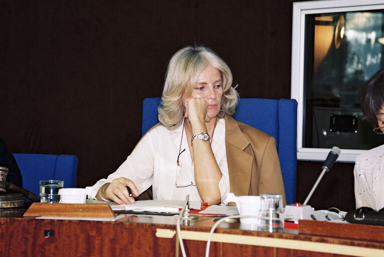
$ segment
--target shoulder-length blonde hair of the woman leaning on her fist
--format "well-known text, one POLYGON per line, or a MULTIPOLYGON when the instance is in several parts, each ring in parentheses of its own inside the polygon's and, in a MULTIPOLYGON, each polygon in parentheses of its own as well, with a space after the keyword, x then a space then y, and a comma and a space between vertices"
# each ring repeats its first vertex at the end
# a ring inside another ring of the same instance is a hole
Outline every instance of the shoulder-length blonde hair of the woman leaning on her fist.
POLYGON ((179 125, 184 118, 181 95, 188 87, 188 96, 200 73, 212 65, 221 73, 223 95, 220 112, 217 115, 233 115, 237 106, 238 93, 232 86, 232 72, 228 65, 211 49, 204 46, 187 46, 177 51, 169 60, 165 75, 161 106, 159 106, 159 121, 168 129, 179 125))

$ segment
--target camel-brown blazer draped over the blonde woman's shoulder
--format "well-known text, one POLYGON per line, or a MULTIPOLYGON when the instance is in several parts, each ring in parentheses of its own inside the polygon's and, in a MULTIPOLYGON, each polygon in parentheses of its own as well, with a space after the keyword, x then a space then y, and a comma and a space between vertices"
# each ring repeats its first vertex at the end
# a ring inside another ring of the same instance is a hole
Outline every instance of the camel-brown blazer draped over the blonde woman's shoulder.
POLYGON ((225 115, 225 148, 230 192, 282 194, 287 204, 275 138, 225 115))

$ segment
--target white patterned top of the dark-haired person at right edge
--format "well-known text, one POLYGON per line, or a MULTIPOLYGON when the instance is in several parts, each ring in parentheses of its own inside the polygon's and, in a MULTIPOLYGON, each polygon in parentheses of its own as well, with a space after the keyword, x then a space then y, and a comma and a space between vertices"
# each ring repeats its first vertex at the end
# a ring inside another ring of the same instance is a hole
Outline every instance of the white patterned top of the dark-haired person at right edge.
POLYGON ((373 148, 356 158, 356 208, 366 206, 379 210, 384 207, 384 145, 373 148))

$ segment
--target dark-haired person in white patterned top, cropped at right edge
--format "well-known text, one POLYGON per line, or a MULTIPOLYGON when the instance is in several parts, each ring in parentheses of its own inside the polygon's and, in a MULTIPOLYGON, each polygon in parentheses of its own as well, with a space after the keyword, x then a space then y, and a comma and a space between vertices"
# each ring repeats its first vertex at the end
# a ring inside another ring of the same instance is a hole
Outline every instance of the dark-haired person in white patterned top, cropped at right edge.
MULTIPOLYGON (((360 90, 363 118, 377 134, 384 134, 384 68, 374 74, 360 90)), ((384 145, 356 158, 354 167, 356 208, 384 207, 384 145)))

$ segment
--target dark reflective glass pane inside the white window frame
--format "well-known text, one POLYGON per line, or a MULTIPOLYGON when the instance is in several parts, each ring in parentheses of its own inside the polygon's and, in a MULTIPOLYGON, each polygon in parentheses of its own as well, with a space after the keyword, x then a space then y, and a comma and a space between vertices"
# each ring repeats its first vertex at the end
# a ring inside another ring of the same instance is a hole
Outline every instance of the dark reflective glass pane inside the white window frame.
POLYGON ((358 100, 383 67, 382 11, 306 15, 303 147, 366 150, 384 143, 361 119, 358 100))

